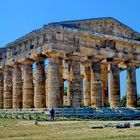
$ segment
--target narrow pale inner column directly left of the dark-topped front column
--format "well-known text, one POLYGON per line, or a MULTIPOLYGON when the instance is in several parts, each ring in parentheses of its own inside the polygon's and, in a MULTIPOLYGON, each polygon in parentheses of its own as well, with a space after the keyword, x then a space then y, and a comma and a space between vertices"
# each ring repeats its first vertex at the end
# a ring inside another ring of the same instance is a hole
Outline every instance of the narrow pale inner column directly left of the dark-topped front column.
POLYGON ((91 68, 85 67, 84 73, 84 106, 91 105, 91 68))

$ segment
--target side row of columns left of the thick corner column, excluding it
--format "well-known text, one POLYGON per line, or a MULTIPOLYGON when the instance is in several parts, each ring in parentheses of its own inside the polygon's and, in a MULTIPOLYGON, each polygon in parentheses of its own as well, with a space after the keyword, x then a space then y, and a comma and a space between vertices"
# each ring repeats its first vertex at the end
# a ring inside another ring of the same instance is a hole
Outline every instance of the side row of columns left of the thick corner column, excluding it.
POLYGON ((0 108, 45 107, 45 65, 36 63, 35 89, 32 64, 5 68, 0 73, 0 108))

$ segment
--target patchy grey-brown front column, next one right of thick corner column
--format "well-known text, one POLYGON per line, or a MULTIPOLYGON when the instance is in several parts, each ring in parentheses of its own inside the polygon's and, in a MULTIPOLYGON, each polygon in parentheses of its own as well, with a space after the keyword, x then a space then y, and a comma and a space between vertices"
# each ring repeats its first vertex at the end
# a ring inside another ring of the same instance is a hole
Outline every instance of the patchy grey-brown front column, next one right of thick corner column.
POLYGON ((71 63, 72 81, 70 83, 70 94, 72 107, 81 106, 81 77, 80 77, 80 61, 72 60, 71 63))

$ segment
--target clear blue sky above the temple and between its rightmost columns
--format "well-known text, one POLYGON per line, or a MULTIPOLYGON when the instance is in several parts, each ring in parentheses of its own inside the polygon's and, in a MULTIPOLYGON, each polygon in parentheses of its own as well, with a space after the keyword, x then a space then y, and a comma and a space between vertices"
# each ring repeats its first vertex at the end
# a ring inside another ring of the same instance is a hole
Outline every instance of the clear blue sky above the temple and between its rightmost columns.
MULTIPOLYGON (((140 0, 0 0, 0 46, 55 21, 114 17, 140 32, 140 0)), ((125 93, 126 72, 121 73, 125 93)), ((140 93, 140 70, 137 70, 140 93)))

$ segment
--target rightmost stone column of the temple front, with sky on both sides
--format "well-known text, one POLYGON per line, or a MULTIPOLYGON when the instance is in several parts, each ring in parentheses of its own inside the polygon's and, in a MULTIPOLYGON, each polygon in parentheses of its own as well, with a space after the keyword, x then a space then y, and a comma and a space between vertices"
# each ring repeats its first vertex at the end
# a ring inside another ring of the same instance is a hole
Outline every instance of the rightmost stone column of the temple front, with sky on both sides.
POLYGON ((135 66, 127 68, 127 107, 137 107, 137 86, 136 86, 136 70, 135 66))

